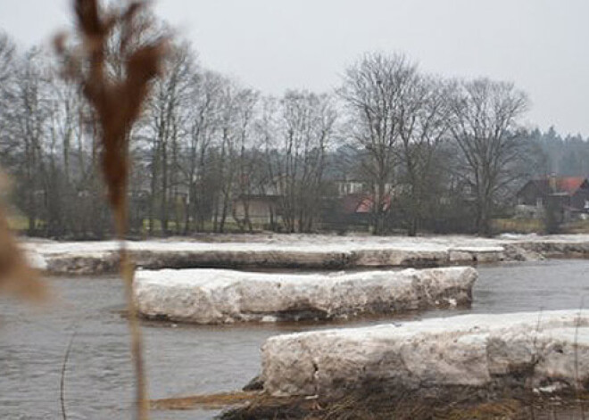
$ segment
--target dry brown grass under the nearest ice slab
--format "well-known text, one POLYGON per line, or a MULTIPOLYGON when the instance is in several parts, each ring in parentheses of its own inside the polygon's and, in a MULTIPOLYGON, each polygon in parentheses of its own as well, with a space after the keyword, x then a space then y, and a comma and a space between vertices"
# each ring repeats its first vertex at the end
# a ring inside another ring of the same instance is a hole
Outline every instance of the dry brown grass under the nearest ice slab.
MULTIPOLYGON (((585 401, 586 403, 587 401, 585 401)), ((276 399, 264 394, 229 408, 224 420, 491 420, 583 419, 574 395, 497 394, 456 389, 434 397, 412 392, 350 394, 344 399, 276 399)))

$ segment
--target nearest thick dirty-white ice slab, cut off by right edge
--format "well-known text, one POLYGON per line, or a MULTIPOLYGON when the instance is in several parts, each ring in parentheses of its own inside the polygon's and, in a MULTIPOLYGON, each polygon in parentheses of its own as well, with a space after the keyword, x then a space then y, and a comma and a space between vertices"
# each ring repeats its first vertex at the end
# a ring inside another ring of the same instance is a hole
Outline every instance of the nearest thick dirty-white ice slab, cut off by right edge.
POLYGON ((337 397, 371 386, 586 389, 589 315, 468 315, 278 335, 262 347, 261 379, 273 396, 337 397))

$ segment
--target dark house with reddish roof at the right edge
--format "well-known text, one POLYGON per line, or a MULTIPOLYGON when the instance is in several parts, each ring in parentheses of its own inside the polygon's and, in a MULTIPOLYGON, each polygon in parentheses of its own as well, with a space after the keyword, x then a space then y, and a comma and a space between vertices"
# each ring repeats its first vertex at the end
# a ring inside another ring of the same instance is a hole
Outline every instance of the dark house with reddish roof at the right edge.
POLYGON ((553 211, 560 221, 589 215, 589 180, 585 177, 532 179, 517 194, 519 216, 542 218, 553 211))

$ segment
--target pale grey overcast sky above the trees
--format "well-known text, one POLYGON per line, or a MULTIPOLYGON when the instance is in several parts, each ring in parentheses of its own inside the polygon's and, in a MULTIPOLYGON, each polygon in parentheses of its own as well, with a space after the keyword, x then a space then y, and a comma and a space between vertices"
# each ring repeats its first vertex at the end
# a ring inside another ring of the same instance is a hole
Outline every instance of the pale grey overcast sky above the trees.
MULTIPOLYGON (((67 28, 69 0, 0 0, 22 46, 67 28)), ((526 90, 530 125, 589 136, 589 0, 159 0, 201 62, 262 92, 339 83, 367 51, 404 52, 444 76, 526 90)))

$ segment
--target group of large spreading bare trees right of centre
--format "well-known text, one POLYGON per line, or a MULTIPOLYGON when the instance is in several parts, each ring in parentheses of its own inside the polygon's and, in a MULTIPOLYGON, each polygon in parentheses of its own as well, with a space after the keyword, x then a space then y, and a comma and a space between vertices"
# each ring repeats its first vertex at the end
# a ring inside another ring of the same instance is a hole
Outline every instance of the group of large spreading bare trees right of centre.
POLYGON ((477 232, 491 233, 495 203, 529 167, 523 92, 487 78, 432 77, 402 55, 369 54, 346 71, 339 95, 371 180, 376 233, 386 232, 388 202, 398 197, 416 235, 444 190, 461 206, 470 201, 477 232))

